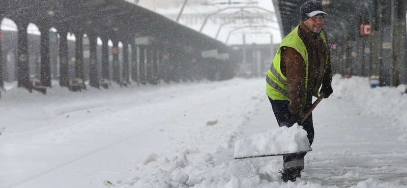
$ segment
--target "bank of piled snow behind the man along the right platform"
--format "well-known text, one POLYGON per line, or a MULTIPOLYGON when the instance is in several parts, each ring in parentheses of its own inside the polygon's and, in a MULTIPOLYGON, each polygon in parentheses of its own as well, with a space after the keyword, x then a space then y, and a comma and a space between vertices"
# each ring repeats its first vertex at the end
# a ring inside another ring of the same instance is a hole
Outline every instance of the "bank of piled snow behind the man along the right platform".
POLYGON ((355 101, 364 110, 363 114, 386 117, 394 122, 389 126, 400 129, 399 140, 407 143, 407 93, 406 85, 397 87, 370 88, 367 77, 352 76, 351 79, 341 79, 334 75, 333 94, 336 98, 355 101))

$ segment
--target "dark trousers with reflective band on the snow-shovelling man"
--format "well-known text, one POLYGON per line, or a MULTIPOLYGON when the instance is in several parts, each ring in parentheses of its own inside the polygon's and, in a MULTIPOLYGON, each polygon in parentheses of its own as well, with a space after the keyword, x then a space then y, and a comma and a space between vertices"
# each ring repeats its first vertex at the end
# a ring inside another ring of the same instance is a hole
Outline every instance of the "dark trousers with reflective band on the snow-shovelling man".
MULTIPOLYGON (((306 113, 312 105, 312 95, 307 95, 307 102, 303 109, 303 112, 306 113)), ((289 112, 289 101, 286 100, 272 100, 270 99, 271 107, 273 108, 274 115, 276 116, 278 126, 291 127, 291 114, 289 112)), ((314 140, 314 126, 312 123, 312 113, 305 119, 305 121, 299 126, 302 126, 304 130, 308 133, 307 137, 309 140, 309 145, 312 144, 314 140)), ((284 170, 295 169, 301 171, 304 169, 304 156, 306 153, 293 154, 293 155, 284 155, 283 156, 283 167, 284 170)))

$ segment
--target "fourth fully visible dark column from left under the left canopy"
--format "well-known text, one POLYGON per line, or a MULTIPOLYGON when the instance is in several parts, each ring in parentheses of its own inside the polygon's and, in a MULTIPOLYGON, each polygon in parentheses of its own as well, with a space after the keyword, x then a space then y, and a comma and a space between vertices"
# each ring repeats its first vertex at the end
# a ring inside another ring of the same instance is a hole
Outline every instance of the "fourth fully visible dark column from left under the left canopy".
POLYGON ((83 76, 83 33, 79 32, 75 34, 76 42, 75 42, 75 76, 78 79, 82 79, 84 81, 83 76))

